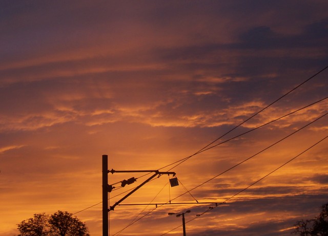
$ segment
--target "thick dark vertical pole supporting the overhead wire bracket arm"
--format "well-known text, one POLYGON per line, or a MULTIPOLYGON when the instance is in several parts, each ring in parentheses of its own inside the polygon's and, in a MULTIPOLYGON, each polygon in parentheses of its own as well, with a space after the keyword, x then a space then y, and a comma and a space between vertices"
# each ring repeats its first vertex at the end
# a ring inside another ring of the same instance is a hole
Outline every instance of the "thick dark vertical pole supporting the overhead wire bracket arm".
POLYGON ((108 156, 103 155, 103 236, 108 236, 108 156))

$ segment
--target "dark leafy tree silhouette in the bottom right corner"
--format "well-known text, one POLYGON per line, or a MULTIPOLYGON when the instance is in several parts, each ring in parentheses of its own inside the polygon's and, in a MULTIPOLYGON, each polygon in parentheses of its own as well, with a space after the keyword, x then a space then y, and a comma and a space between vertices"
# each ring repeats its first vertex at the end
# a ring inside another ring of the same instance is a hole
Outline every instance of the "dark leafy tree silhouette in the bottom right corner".
POLYGON ((328 236, 328 203, 321 206, 318 217, 311 220, 301 220, 295 224, 295 230, 300 236, 328 236))

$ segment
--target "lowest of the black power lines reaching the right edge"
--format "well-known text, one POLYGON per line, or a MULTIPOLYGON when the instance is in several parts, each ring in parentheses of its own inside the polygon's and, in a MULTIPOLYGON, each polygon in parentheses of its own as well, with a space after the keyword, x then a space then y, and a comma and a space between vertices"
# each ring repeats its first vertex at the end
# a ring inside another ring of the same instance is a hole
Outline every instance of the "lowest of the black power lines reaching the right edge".
MULTIPOLYGON (((317 144, 319 144, 320 142, 322 142, 322 141, 325 140, 326 138, 328 138, 328 136, 324 137, 323 139, 321 139, 320 141, 316 142, 315 144, 313 144, 313 145, 310 146, 309 148, 305 149, 303 152, 301 152, 301 153, 298 154, 297 156, 293 157, 293 158, 290 159, 289 161, 285 162, 284 164, 280 165, 280 166, 277 167, 276 169, 272 170, 269 174, 263 176, 262 178, 258 179, 258 180, 255 181, 254 183, 252 183, 252 184, 250 184, 249 186, 245 187, 244 189, 240 190, 239 192, 237 192, 236 194, 234 194, 233 196, 231 196, 230 198, 228 198, 227 200, 225 200, 223 203, 228 202, 229 200, 233 199, 233 198, 236 197, 237 195, 241 194, 241 192, 243 192, 243 191, 249 189, 249 188, 252 187, 253 185, 255 185, 255 184, 257 184, 258 182, 262 181, 264 178, 267 178, 268 176, 270 176, 271 174, 273 174, 273 173, 274 173, 275 171, 277 171, 278 169, 282 168, 282 167, 285 166, 286 164, 288 164, 288 163, 292 162, 293 160, 295 160, 295 159, 296 159, 297 157, 299 157, 300 155, 304 154, 305 152, 308 152, 311 148, 313 148, 314 146, 316 146, 317 144)), ((223 203, 221 203, 221 204, 223 204, 223 203)), ((216 206, 210 207, 208 210, 204 211, 203 213, 198 214, 197 217, 195 217, 195 218, 193 218, 193 219, 187 221, 186 224, 189 223, 189 222, 191 222, 191 221, 193 221, 193 220, 195 220, 195 219, 197 219, 198 217, 202 216, 203 214, 205 214, 205 213, 207 213, 207 212, 213 210, 214 208, 218 207, 218 206, 221 205, 221 204, 218 204, 218 205, 216 205, 216 206)), ((179 225, 178 227, 175 227, 174 229, 171 229, 170 231, 167 231, 166 233, 163 233, 163 234, 161 234, 160 236, 165 235, 165 234, 167 234, 167 233, 169 233, 169 232, 172 232, 173 230, 175 230, 175 229, 177 229, 177 228, 179 228, 179 227, 181 227, 181 226, 182 226, 182 225, 179 225)))

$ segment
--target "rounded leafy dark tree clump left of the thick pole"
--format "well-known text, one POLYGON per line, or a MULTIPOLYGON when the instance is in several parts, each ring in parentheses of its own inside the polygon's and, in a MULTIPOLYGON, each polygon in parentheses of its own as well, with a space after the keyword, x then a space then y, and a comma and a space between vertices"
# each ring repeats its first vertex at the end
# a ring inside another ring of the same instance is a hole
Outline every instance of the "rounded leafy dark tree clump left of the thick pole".
POLYGON ((33 218, 17 225, 17 236, 90 236, 88 227, 67 211, 34 214, 33 218))

